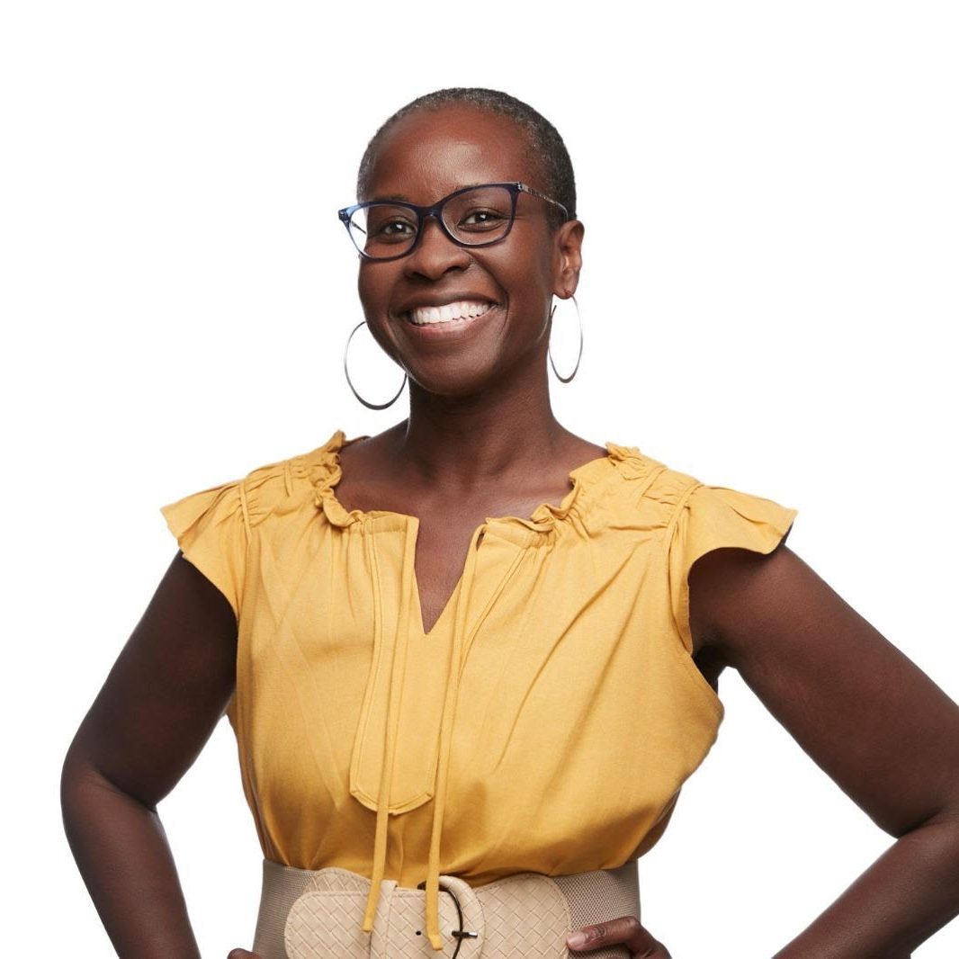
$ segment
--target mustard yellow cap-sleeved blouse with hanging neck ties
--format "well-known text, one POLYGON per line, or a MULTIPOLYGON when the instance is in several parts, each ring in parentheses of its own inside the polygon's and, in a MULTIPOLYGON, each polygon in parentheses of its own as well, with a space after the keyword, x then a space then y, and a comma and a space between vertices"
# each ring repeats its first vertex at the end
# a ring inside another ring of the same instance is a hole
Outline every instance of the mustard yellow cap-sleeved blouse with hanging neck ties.
POLYGON ((770 552, 797 511, 608 442, 558 506, 477 528, 427 635, 419 521, 336 495, 364 438, 161 510, 237 615, 227 717, 264 856, 370 877, 367 931, 384 877, 426 879, 438 949, 441 872, 560 876, 657 842, 723 718, 690 655, 690 567, 770 552))

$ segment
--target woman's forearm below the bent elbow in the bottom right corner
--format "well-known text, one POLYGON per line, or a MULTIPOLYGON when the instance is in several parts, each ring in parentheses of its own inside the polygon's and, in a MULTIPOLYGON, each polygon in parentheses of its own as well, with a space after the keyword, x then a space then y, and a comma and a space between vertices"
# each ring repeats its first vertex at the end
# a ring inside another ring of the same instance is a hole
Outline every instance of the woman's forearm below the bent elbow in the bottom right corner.
POLYGON ((898 839, 773 959, 908 959, 959 915, 959 823, 898 839))

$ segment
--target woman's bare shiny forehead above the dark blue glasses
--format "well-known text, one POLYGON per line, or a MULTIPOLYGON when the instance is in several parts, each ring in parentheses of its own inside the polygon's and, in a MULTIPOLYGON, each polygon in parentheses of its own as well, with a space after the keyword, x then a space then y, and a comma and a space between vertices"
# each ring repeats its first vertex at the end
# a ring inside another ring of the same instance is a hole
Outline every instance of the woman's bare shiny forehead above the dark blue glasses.
POLYGON ((361 199, 426 204, 471 183, 536 185, 535 168, 526 131, 509 117, 458 105, 415 110, 386 131, 361 199))

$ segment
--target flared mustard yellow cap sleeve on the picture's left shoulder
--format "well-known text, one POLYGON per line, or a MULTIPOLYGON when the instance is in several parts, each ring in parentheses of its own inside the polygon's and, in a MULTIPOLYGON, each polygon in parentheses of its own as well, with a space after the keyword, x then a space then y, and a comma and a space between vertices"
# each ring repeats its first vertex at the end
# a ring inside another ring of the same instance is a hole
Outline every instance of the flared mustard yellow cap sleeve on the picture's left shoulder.
POLYGON ((191 493, 160 512, 184 558, 229 600, 239 620, 249 530, 243 480, 191 493))

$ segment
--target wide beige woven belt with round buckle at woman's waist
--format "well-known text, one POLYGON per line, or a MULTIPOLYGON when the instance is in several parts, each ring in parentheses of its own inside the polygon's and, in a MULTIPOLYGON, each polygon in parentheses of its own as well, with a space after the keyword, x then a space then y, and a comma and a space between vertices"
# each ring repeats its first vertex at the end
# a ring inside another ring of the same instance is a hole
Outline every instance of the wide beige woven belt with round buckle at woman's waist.
POLYGON ((517 873, 472 887, 440 876, 443 949, 430 945, 425 886, 384 879, 372 933, 363 932, 369 879, 348 869, 310 871, 263 860, 253 951, 263 959, 628 959, 626 947, 574 952, 566 937, 583 925, 640 918, 635 859, 618 869, 571 876, 517 873), (445 895, 443 895, 445 894, 445 895))

